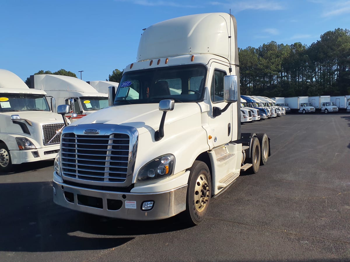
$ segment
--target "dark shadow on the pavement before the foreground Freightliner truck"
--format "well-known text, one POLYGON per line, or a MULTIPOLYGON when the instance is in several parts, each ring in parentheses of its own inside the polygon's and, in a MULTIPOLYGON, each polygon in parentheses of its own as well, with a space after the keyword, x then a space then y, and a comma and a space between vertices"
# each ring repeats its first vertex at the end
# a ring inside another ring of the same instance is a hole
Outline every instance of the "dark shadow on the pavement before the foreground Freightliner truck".
POLYGON ((129 221, 85 214, 52 201, 51 182, 0 184, 0 251, 54 252, 121 246, 136 235, 188 228, 179 217, 129 221))

